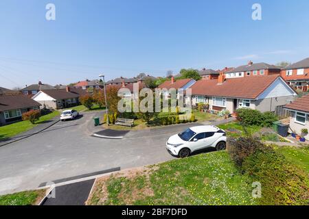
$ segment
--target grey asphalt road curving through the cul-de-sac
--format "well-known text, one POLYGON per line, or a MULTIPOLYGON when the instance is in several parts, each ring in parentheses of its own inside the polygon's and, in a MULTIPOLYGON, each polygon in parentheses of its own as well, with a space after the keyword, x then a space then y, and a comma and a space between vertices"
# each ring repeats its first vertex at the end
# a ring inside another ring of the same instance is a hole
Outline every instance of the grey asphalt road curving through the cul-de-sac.
POLYGON ((111 168, 132 168, 174 159, 165 150, 170 133, 108 140, 91 137, 93 115, 59 122, 45 131, 0 147, 0 194, 38 188, 111 168))

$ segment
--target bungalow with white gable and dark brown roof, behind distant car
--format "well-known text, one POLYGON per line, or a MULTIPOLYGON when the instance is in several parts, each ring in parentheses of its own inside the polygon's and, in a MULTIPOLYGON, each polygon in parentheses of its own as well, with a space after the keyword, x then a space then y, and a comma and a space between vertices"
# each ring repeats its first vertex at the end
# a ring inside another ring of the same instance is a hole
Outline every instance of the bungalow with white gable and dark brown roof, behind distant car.
POLYGON ((41 103, 43 107, 58 110, 78 105, 79 96, 67 88, 67 90, 41 90, 32 99, 41 103))

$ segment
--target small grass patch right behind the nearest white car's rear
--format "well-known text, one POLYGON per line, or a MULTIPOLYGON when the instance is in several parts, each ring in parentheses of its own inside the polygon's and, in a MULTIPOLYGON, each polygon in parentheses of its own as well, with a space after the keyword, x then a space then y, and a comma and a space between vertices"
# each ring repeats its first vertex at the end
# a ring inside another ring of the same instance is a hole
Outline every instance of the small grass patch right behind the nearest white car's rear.
MULTIPOLYGON (((242 127, 242 125, 238 124, 237 122, 218 125, 218 127, 220 129, 224 129, 225 131, 227 131, 227 136, 229 137, 237 138, 237 137, 246 135, 244 131, 244 127, 242 127)), ((250 127, 245 127, 245 129, 250 135, 253 135, 254 133, 257 133, 258 131, 260 131, 262 127, 250 126, 250 127)))

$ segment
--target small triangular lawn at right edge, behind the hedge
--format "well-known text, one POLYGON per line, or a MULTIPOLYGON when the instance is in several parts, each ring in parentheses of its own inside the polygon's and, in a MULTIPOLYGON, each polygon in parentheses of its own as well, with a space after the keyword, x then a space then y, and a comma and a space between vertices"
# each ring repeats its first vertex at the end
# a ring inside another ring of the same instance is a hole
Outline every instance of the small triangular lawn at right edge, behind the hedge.
POLYGON ((275 149, 282 153, 292 164, 309 173, 309 146, 301 148, 276 146, 275 149))

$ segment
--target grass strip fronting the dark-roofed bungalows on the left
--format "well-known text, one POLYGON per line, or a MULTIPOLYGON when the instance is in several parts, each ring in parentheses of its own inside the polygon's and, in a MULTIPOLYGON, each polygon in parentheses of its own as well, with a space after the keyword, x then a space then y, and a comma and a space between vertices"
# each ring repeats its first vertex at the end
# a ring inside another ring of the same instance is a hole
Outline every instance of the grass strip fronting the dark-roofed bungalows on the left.
POLYGON ((45 121, 50 120, 55 116, 58 116, 59 114, 60 112, 54 111, 51 114, 41 116, 41 118, 38 121, 36 121, 35 124, 30 123, 30 121, 21 121, 18 123, 13 123, 11 125, 5 125, 3 127, 0 127, 0 140, 16 136, 17 134, 22 133, 24 131, 28 131, 36 127, 37 125, 45 123, 45 121))

